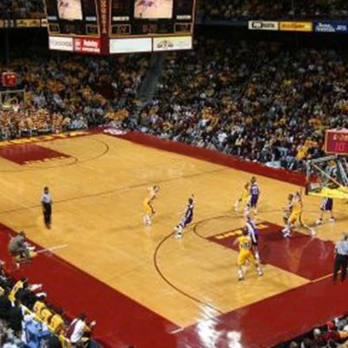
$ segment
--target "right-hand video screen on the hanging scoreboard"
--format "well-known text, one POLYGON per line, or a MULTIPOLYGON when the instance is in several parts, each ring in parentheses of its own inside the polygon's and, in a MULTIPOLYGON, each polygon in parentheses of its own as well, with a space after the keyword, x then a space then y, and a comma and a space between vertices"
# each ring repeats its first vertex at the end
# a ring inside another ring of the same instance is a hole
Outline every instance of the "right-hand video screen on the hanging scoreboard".
POLYGON ((172 18, 173 0, 135 0, 134 18, 172 18))

